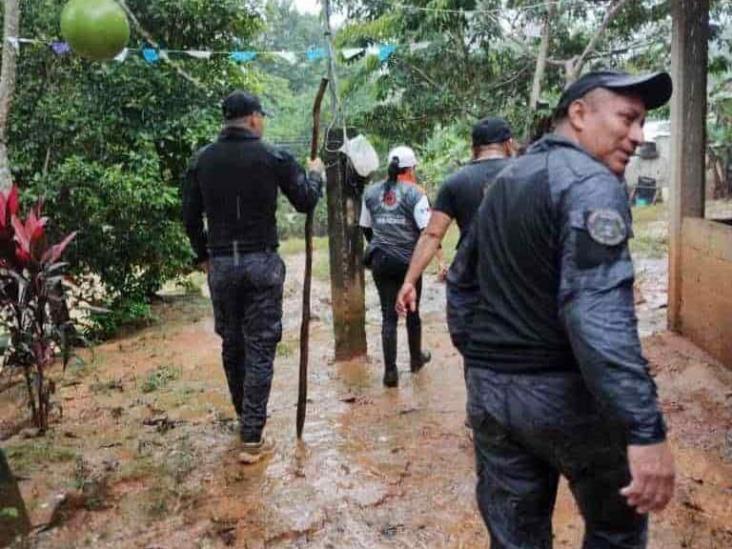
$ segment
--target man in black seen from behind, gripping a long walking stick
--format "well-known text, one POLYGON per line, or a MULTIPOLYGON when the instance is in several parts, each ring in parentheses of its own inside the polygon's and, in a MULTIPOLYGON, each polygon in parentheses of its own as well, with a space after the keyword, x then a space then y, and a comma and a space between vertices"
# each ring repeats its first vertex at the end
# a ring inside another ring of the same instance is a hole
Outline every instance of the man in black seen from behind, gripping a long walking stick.
POLYGON ((282 337, 278 190, 297 211, 308 212, 320 197, 324 167, 316 159, 306 174, 291 155, 262 142, 265 112, 256 96, 236 91, 222 108, 219 138, 196 153, 186 174, 183 219, 196 261, 208 273, 215 330, 240 421, 240 460, 253 463, 273 447, 264 425, 282 337))

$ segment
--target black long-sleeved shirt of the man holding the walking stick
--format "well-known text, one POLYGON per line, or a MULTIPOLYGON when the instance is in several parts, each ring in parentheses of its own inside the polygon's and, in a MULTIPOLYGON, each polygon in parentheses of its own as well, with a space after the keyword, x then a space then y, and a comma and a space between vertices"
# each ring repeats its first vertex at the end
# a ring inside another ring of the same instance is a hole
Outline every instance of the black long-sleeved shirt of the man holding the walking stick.
POLYGON ((244 128, 225 128, 200 149, 186 173, 183 221, 197 261, 274 250, 278 190, 299 212, 318 202, 320 176, 244 128), (207 228, 204 229, 203 216, 207 228))

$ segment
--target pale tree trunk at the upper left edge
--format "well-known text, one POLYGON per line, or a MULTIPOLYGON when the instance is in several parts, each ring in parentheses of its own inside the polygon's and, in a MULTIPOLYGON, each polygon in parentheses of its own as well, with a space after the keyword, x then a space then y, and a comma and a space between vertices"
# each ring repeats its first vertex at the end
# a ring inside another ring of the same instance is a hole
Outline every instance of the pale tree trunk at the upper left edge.
POLYGON ((10 173, 8 162, 8 116, 10 115, 10 104, 15 92, 15 76, 18 52, 16 45, 11 39, 18 38, 20 23, 19 0, 5 0, 5 13, 3 15, 3 60, 0 70, 0 190, 7 190, 13 184, 13 177, 10 173))

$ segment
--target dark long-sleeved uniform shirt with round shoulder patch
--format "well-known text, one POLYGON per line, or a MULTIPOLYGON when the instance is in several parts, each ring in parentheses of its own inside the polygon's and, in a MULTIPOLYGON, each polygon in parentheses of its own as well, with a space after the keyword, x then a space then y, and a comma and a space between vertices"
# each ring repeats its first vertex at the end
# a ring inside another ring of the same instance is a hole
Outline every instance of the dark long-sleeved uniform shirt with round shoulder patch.
POLYGON ((601 406, 628 427, 629 443, 663 440, 638 338, 623 182, 550 134, 499 175, 475 229, 481 296, 466 365, 539 375, 579 370, 601 406))

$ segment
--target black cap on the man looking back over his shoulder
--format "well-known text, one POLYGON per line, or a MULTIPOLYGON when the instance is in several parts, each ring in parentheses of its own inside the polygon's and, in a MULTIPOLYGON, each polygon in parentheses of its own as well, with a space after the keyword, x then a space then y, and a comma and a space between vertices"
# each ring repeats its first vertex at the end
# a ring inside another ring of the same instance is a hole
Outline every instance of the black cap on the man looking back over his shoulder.
POLYGON ((572 102, 596 88, 638 95, 650 111, 665 105, 671 99, 673 82, 667 72, 640 75, 610 70, 588 72, 564 90, 554 111, 555 118, 565 115, 572 102))

